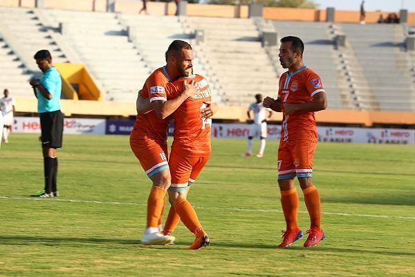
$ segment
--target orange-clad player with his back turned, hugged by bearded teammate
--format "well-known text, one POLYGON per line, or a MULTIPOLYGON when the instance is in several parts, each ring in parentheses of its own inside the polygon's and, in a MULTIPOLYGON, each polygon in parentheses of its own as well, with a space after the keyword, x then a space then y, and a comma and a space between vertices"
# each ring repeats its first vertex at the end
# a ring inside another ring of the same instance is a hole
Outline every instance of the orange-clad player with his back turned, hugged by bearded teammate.
MULTIPOLYGON (((176 98, 181 87, 188 81, 195 81, 199 90, 194 96, 187 98, 173 113, 174 141, 169 158, 172 175, 169 202, 172 206, 167 216, 163 234, 171 235, 181 220, 196 237, 189 249, 199 249, 207 247, 210 241, 194 208, 187 201, 187 193, 210 157, 211 117, 217 111, 218 105, 210 102, 210 87, 201 75, 180 78, 175 82, 166 84, 167 100, 176 98)), ((144 100, 140 100, 138 106, 140 107, 139 112, 142 113, 151 109, 144 100)))

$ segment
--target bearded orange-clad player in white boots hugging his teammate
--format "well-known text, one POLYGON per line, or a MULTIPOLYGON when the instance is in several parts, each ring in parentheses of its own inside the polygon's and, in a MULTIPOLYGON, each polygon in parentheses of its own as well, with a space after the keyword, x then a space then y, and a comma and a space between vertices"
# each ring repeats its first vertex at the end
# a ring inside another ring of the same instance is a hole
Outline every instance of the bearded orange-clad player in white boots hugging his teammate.
MULTIPOLYGON (((165 206, 165 194, 171 184, 167 163, 167 124, 169 116, 188 97, 196 93, 193 83, 183 84, 176 98, 167 100, 165 85, 183 75, 192 73, 193 50, 190 44, 175 40, 166 52, 166 66, 156 69, 145 81, 138 95, 149 99, 152 111, 138 114, 130 135, 131 150, 153 182, 147 199, 147 228, 141 238, 143 244, 169 244, 174 237, 160 233, 159 225, 165 206)), ((137 107, 139 111, 139 107, 137 107)))

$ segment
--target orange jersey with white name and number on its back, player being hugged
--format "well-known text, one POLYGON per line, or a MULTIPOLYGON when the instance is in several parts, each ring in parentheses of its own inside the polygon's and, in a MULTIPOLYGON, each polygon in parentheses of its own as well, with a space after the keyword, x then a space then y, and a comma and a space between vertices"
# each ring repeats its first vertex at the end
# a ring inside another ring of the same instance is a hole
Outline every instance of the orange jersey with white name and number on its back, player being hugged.
POLYGON ((212 150, 210 145, 210 126, 212 119, 201 118, 199 112, 206 107, 205 102, 211 100, 208 81, 201 75, 180 78, 166 85, 167 98, 176 98, 181 93, 183 81, 195 80, 198 93, 187 98, 173 113, 174 141, 173 151, 181 151, 190 156, 208 156, 212 150))

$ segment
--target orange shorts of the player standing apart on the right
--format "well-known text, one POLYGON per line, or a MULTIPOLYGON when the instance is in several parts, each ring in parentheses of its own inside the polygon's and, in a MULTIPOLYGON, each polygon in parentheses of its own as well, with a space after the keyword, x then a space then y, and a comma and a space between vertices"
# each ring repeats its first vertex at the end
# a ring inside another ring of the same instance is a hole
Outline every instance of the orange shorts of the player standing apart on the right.
POLYGON ((317 143, 306 139, 280 141, 278 179, 313 177, 313 158, 317 143))

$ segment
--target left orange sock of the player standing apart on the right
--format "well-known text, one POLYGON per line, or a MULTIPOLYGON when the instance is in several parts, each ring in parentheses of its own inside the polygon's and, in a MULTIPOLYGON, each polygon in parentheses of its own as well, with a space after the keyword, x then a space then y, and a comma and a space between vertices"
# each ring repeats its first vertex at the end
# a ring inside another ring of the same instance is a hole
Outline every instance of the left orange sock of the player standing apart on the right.
POLYGON ((287 224, 287 230, 298 229, 297 213, 298 213, 298 194, 297 189, 281 190, 282 211, 287 224))

